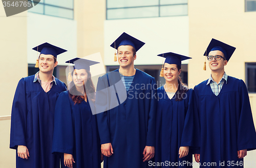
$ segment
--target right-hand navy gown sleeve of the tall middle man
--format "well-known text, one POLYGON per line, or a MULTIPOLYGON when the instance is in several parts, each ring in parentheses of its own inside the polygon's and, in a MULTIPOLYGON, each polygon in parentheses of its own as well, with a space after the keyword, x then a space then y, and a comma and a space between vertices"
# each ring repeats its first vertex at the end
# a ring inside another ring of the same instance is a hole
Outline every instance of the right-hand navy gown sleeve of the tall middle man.
POLYGON ((155 79, 151 82, 150 113, 148 115, 146 146, 156 145, 156 110, 157 110, 157 85, 155 79))

